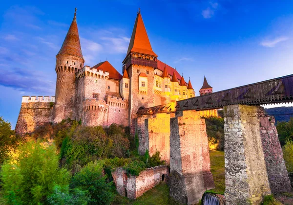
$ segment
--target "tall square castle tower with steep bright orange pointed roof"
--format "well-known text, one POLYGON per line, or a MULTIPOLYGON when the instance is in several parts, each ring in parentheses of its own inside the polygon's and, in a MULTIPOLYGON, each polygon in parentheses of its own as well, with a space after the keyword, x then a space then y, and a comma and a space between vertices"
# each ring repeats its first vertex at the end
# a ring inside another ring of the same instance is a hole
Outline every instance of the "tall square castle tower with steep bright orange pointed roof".
POLYGON ((123 68, 129 76, 128 120, 134 133, 133 119, 136 118, 137 110, 154 106, 154 68, 157 68, 157 54, 151 48, 140 11, 134 23, 123 68))

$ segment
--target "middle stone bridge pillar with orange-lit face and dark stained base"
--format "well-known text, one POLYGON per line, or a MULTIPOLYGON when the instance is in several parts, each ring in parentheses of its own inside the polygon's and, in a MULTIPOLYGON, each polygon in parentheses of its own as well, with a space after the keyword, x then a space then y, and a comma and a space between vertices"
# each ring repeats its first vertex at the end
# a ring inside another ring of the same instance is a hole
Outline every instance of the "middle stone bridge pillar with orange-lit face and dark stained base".
POLYGON ((215 187, 209 161, 205 119, 200 112, 181 111, 170 119, 170 196, 196 204, 215 187))

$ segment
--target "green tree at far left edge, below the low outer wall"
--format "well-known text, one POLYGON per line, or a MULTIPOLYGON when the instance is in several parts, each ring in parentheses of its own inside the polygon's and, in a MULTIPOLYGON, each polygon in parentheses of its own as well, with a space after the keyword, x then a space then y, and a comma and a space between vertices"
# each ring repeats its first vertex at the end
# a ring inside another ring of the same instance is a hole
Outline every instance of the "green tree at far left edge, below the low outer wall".
POLYGON ((11 124, 0 116, 0 164, 8 157, 9 150, 15 146, 16 137, 11 124))

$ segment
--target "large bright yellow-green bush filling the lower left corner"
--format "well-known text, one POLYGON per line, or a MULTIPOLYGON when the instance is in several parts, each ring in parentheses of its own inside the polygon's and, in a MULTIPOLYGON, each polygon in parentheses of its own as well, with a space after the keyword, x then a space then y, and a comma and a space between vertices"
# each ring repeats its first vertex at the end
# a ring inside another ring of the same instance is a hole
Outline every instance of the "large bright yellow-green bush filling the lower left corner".
POLYGON ((55 184, 68 184, 69 173, 59 169, 54 144, 31 141, 18 151, 2 166, 2 196, 8 204, 43 203, 55 184))

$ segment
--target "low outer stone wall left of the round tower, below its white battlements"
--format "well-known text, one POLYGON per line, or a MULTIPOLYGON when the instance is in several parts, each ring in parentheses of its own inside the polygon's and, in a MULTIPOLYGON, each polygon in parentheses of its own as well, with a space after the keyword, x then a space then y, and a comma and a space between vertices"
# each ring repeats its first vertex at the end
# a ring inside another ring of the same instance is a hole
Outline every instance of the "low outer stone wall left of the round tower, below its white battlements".
POLYGON ((53 102, 21 103, 21 111, 16 123, 16 134, 31 133, 36 128, 50 123, 53 115, 53 102))

